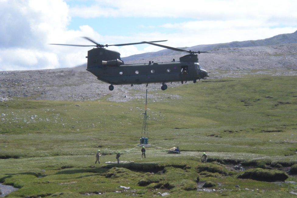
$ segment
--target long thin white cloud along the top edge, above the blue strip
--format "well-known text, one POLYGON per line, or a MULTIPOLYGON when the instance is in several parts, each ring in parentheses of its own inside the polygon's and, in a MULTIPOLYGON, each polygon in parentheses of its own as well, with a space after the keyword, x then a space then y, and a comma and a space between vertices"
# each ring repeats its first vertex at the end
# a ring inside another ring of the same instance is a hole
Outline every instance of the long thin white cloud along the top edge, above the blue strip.
MULTIPOLYGON (((295 0, 97 0, 91 6, 70 9, 71 16, 95 17, 185 17, 198 20, 297 18, 295 0)), ((295 20, 296 21, 296 20, 295 20)), ((294 23, 294 20, 292 20, 294 23)))

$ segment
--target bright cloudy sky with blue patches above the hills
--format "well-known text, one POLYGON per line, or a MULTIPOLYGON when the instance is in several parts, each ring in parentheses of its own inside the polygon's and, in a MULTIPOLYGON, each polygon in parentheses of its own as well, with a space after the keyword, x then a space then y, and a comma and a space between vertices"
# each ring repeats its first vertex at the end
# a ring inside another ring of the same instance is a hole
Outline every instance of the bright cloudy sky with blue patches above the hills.
MULTIPOLYGON (((297 30, 295 0, 0 0, 0 71, 75 67, 92 45, 168 40, 190 47, 269 38, 297 30)), ((161 50, 110 46, 121 57, 161 50)))

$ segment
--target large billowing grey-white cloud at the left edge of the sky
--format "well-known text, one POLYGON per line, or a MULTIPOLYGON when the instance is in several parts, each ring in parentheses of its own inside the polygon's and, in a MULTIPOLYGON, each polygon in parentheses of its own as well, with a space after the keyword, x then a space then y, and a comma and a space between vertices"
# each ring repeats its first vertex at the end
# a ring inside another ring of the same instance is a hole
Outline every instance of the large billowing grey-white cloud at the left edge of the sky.
POLYGON ((47 48, 51 34, 63 32, 68 6, 61 0, 0 1, 0 70, 59 67, 47 48))

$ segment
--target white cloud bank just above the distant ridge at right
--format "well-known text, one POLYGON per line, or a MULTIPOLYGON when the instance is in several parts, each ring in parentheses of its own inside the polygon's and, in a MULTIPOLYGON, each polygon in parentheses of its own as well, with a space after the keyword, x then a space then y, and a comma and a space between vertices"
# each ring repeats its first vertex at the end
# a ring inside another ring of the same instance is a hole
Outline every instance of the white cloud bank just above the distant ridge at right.
POLYGON ((180 35, 184 44, 176 43, 179 46, 264 39, 278 34, 293 33, 297 29, 290 26, 271 28, 273 25, 274 23, 264 21, 230 20, 167 23, 161 27, 179 30, 176 34, 169 34, 173 39, 178 39, 180 35))

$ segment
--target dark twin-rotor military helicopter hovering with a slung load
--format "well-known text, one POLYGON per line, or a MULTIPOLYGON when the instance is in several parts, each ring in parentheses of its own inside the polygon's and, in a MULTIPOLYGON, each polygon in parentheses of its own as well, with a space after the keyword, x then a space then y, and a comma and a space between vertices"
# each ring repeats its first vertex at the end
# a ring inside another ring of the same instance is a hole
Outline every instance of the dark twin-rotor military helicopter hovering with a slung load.
POLYGON ((94 74, 98 80, 110 84, 109 90, 114 90, 114 85, 140 85, 149 83, 161 83, 161 89, 166 90, 168 82, 181 82, 206 79, 208 73, 203 70, 198 63, 197 54, 206 53, 201 51, 191 51, 186 49, 169 47, 160 45, 156 42, 162 41, 142 41, 137 43, 125 43, 116 45, 101 45, 88 37, 82 37, 96 45, 72 45, 72 44, 50 44, 50 45, 66 45, 78 47, 91 47, 88 51, 87 58, 87 71, 94 74), (179 58, 179 61, 173 59, 171 62, 154 63, 138 63, 138 64, 124 64, 121 60, 120 53, 108 50, 108 46, 124 46, 124 45, 137 45, 137 44, 150 44, 175 51, 187 52, 189 54, 179 58))

